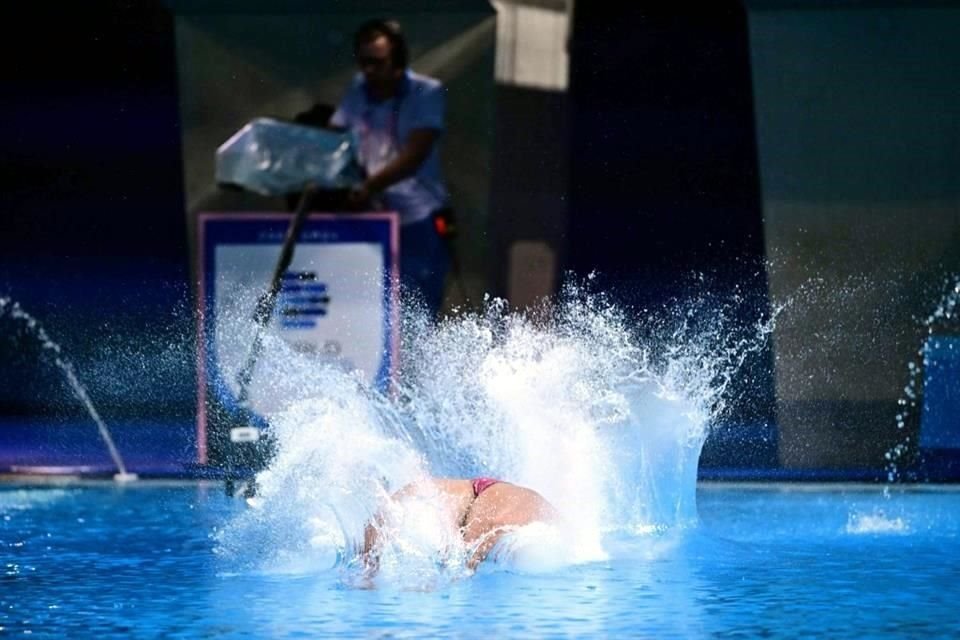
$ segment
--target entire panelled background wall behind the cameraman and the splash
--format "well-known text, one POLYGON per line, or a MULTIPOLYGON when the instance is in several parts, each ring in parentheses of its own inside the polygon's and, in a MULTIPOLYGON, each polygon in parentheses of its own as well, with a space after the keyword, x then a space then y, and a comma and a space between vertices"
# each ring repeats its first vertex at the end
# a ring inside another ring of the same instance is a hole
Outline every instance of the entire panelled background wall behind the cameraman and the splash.
MULTIPOLYGON (((922 440, 922 418, 939 430, 926 442, 960 448, 960 379, 896 418, 927 334, 957 333, 924 324, 960 272, 957 3, 11 11, 0 297, 40 319, 144 460, 192 455, 197 212, 285 209, 217 189, 216 147, 253 117, 336 104, 352 30, 377 15, 398 18, 412 67, 449 87, 466 297, 448 288, 448 308, 487 292, 523 307, 592 271, 635 309, 697 280, 760 314, 791 301, 704 469, 879 477, 885 452, 922 440)), ((10 326, 0 467, 103 455, 64 440, 92 430, 10 326)), ((942 378, 960 373, 952 353, 934 354, 942 378)))

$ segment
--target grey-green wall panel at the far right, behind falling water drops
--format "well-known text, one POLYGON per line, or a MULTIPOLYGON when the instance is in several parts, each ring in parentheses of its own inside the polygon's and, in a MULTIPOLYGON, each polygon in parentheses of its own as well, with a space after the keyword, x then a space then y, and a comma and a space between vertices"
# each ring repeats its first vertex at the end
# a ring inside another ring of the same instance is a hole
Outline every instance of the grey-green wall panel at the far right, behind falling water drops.
MULTIPOLYGON (((925 404, 960 432, 955 406, 917 396, 925 322, 960 275, 960 6, 757 4, 768 274, 790 303, 774 336, 781 460, 871 466, 897 444, 909 459, 925 404)), ((930 332, 960 330, 942 320, 930 332)))

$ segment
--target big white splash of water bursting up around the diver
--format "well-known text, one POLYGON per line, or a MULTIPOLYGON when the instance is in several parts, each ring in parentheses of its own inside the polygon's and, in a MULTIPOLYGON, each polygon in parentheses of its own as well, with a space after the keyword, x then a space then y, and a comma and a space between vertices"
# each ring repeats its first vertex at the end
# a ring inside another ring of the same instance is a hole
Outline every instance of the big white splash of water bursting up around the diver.
MULTIPOLYGON (((703 442, 772 319, 739 326, 736 300, 707 295, 628 313, 590 287, 570 284, 526 313, 489 299, 438 324, 407 314, 387 394, 288 354, 284 384, 307 380, 303 399, 269 417, 278 452, 257 508, 217 533, 218 552, 260 570, 349 571, 364 524, 428 475, 494 476, 557 507, 562 532, 524 528, 493 554, 513 569, 604 558, 613 532, 695 525, 703 442)), ((463 575, 467 550, 441 501, 416 504, 388 514, 380 575, 416 585, 463 575)))

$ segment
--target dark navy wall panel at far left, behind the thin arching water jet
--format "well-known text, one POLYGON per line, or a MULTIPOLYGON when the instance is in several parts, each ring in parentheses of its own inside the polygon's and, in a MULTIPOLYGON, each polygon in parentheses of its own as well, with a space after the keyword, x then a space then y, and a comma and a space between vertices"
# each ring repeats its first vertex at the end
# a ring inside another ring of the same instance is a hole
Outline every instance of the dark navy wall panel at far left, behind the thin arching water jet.
MULTIPOLYGON (((6 9, 0 296, 63 347, 112 416, 192 415, 173 20, 159 2, 6 9)), ((0 319, 0 414, 76 415, 0 319)), ((82 410, 81 410, 82 411, 82 410)))

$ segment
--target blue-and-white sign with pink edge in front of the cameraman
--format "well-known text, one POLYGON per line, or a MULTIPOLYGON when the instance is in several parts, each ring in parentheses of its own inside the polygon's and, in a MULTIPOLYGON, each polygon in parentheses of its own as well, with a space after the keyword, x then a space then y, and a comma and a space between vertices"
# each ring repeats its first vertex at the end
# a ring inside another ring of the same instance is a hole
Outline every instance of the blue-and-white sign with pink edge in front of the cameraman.
POLYGON ((255 428, 300 399, 317 367, 359 372, 386 389, 399 345, 398 223, 394 213, 312 214, 282 276, 263 349, 241 407, 238 376, 251 354, 292 214, 202 213, 198 273, 198 457, 208 458, 211 407, 255 428), (304 374, 304 375, 301 375, 304 374), (252 414, 252 415, 251 415, 252 414))

